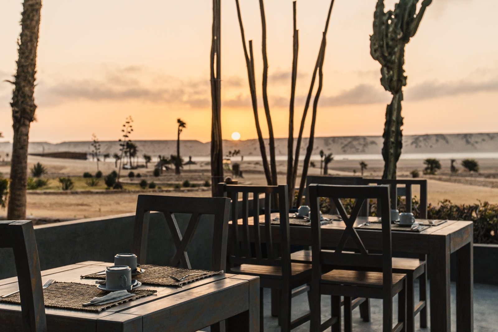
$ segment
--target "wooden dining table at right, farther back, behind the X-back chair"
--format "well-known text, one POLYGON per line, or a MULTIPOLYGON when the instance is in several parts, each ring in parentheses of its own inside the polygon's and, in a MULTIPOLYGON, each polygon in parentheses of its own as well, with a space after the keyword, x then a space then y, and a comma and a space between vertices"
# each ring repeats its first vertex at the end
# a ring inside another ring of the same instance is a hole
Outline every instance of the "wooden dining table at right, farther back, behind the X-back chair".
MULTIPOLYGON (((271 214, 271 218, 278 214, 271 214)), ((264 221, 264 215, 259 216, 264 221)), ((358 217, 355 226, 366 221, 378 221, 373 217, 358 217)), ((427 220, 416 220, 428 223, 427 220)), ((253 218, 248 218, 248 229, 245 230, 243 220, 238 220, 239 231, 249 232, 253 238, 253 218)), ((233 227, 232 222, 230 227, 233 227)), ((273 243, 279 242, 278 225, 272 225, 271 238, 273 243)), ((322 225, 322 245, 337 246, 343 230, 343 221, 331 221, 322 225)), ((366 248, 381 250, 380 231, 374 229, 355 228, 366 248)), ((261 242, 265 240, 265 229, 260 227, 261 242)), ((232 229, 229 234, 232 233, 232 229)), ((430 280, 430 328, 435 332, 451 331, 451 300, 450 300, 450 254, 456 255, 456 330, 458 332, 474 331, 473 306, 473 240, 474 228, 472 221, 447 221, 438 226, 431 226, 420 232, 392 231, 392 251, 427 255, 427 273, 430 280)), ((243 233, 244 234, 244 233, 243 233)), ((350 238, 351 240, 351 238, 350 238)), ((311 227, 290 224, 290 243, 295 245, 311 245, 311 227)), ((353 242, 347 246, 355 248, 353 242)))

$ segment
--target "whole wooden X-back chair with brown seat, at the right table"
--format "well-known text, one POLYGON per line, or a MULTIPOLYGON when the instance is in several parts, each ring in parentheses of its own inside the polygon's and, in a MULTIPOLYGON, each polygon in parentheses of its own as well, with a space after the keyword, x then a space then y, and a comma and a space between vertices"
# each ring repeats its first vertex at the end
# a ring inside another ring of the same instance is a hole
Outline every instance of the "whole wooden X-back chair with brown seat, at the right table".
POLYGON ((405 331, 406 329, 406 276, 392 272, 391 223, 389 209, 389 188, 387 186, 309 186, 311 207, 312 237, 312 283, 311 283, 311 331, 341 331, 341 296, 344 296, 345 331, 352 329, 352 298, 382 299, 383 332, 405 331), (319 221, 319 198, 327 197, 337 206, 346 228, 338 238, 335 249, 321 246, 321 227, 319 221), (355 199, 356 203, 348 216, 340 199, 355 199), (354 223, 362 205, 368 199, 377 199, 382 207, 382 249, 380 253, 370 253, 362 242, 354 223), (355 248, 358 252, 346 252, 355 248), (330 272, 322 269, 333 267, 330 272), (346 268, 346 269, 344 269, 346 268), (349 268, 349 269, 348 269, 349 268), (358 270, 353 270, 358 268, 358 270), (367 269, 367 270, 366 270, 367 269), (332 296, 332 317, 321 323, 321 294, 332 296), (393 328, 392 298, 398 294, 398 323, 393 328))

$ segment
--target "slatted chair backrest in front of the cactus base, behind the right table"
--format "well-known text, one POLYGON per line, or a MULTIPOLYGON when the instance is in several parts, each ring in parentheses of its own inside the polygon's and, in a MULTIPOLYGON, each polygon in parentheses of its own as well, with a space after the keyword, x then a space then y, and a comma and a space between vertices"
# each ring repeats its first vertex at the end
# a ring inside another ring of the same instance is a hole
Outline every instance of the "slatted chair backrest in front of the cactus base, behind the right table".
POLYGON ((391 209, 397 209, 397 196, 406 198, 406 212, 413 212, 412 186, 420 186, 420 219, 427 219, 427 180, 411 179, 363 179, 364 185, 389 185, 391 209), (394 190, 396 188, 396 190, 394 190))

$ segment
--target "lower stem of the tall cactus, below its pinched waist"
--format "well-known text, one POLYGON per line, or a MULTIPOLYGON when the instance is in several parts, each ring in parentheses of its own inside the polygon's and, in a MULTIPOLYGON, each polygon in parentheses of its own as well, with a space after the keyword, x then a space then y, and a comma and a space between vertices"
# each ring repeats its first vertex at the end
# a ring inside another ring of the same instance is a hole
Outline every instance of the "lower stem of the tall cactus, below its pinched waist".
POLYGON ((384 173, 382 179, 396 179, 396 164, 401 155, 403 146, 403 135, 401 126, 403 117, 401 116, 401 101, 403 92, 400 91, 392 96, 391 104, 387 105, 385 111, 384 145, 382 146, 382 157, 384 159, 384 173))

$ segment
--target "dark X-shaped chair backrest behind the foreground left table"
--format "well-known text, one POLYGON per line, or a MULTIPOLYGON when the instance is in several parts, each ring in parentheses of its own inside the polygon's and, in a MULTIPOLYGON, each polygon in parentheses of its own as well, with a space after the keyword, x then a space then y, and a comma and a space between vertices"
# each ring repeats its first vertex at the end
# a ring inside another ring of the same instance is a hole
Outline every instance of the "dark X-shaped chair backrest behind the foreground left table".
POLYGON ((133 229, 133 250, 138 262, 144 264, 147 256, 150 212, 161 212, 171 232, 176 253, 171 266, 191 269, 187 246, 203 215, 214 216, 211 268, 225 270, 227 258, 228 217, 230 200, 211 197, 175 197, 159 195, 138 195, 133 229), (184 234, 181 234, 174 214, 191 214, 184 234))

